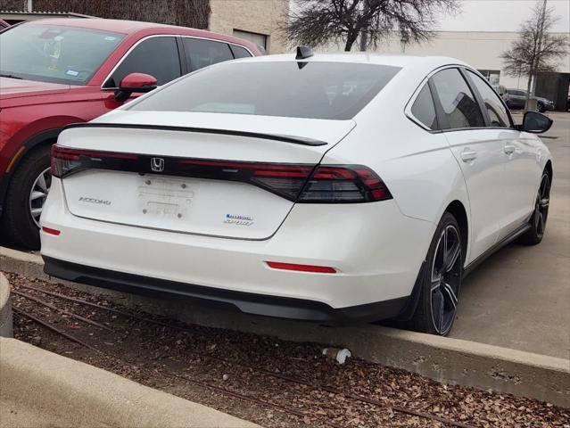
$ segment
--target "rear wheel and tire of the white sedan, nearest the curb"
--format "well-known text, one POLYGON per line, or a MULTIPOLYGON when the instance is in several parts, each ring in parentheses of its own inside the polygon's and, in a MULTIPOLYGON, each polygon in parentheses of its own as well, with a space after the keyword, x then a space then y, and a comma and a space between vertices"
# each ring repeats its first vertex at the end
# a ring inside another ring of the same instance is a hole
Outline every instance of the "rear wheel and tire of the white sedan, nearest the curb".
POLYGON ((425 260, 419 301, 409 326, 445 336, 457 314, 464 260, 461 229, 449 212, 443 214, 425 260))

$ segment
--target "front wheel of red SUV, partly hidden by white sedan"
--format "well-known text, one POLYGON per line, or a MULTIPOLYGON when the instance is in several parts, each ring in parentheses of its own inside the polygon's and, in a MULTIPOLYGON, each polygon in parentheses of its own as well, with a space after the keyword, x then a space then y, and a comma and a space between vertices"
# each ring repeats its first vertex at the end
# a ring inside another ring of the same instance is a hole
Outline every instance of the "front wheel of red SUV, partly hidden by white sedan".
MULTIPOLYGON (((12 243, 29 250, 39 250, 39 226, 31 213, 32 186, 50 166, 50 146, 45 145, 30 152, 13 173, 8 192, 4 199, 2 228, 12 243)), ((45 195, 40 196, 43 207, 49 190, 46 184, 45 195)), ((35 211, 36 212, 36 211, 35 211)))

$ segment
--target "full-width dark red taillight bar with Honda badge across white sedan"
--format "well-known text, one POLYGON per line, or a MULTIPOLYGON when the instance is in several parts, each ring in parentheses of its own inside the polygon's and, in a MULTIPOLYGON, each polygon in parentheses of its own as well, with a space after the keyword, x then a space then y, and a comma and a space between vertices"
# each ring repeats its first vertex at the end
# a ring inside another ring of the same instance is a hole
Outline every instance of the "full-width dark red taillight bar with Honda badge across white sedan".
POLYGON ((218 161, 94 152, 52 146, 52 175, 66 177, 85 169, 111 169, 138 174, 209 178, 256 185, 301 203, 355 203, 392 199, 384 182, 362 165, 329 165, 218 161), (153 169, 159 160, 160 170, 153 169))

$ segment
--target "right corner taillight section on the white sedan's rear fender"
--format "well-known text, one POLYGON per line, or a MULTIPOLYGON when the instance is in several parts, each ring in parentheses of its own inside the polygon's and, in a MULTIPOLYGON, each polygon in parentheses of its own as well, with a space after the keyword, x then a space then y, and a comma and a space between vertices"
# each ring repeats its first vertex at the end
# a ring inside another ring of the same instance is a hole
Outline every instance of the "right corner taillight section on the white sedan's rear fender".
POLYGON ((319 166, 297 202, 354 203, 392 199, 392 194, 376 173, 361 165, 319 166))

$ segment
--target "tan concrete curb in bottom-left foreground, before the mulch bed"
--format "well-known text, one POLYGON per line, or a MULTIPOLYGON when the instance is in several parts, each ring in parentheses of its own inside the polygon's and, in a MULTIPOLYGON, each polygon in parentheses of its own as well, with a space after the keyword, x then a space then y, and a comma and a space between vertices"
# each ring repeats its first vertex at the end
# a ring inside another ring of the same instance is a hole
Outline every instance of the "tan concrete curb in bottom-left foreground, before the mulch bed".
POLYGON ((258 427, 15 339, 0 350, 1 427, 258 427))

